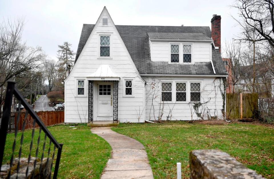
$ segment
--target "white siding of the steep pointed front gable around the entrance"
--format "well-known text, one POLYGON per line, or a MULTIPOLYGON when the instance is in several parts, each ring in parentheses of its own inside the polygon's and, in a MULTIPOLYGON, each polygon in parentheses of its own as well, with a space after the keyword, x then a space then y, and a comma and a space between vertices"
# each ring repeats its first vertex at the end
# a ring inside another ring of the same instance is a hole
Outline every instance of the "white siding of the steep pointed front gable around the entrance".
MULTIPOLYGON (((86 77, 96 72, 101 64, 108 64, 112 71, 120 76, 118 83, 118 120, 120 122, 138 122, 137 111, 145 108, 144 80, 138 74, 131 57, 129 56, 122 39, 117 34, 111 18, 103 10, 98 23, 94 27, 90 38, 86 42, 72 72, 65 80, 65 122, 86 123, 88 122, 88 81, 86 77), (102 25, 102 18, 108 18, 108 25, 102 25), (100 33, 111 35, 111 59, 98 58, 99 35, 100 33), (124 77, 134 78, 134 97, 123 97, 124 77), (77 97, 76 80, 85 79, 85 96, 77 97)), ((95 87, 94 87, 95 88, 95 87)), ((96 105, 96 94, 93 93, 93 105, 96 105)), ((93 111, 93 119, 96 120, 96 111, 93 111)), ((144 122, 144 115, 141 115, 139 122, 144 122)))

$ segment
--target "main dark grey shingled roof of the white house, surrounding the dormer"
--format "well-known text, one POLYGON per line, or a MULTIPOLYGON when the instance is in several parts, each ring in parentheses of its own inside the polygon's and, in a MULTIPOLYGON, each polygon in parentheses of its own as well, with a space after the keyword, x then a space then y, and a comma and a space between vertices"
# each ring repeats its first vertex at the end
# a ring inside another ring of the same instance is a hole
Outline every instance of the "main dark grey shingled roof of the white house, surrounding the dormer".
MULTIPOLYGON (((204 26, 134 26, 115 25, 126 48, 140 74, 192 74, 192 75, 227 75, 218 49, 212 46, 212 61, 216 74, 210 62, 196 62, 195 64, 168 64, 168 62, 152 62, 148 33, 197 33, 211 39, 209 27, 204 26)), ((84 24, 76 52, 75 62, 78 59, 94 25, 84 24)))

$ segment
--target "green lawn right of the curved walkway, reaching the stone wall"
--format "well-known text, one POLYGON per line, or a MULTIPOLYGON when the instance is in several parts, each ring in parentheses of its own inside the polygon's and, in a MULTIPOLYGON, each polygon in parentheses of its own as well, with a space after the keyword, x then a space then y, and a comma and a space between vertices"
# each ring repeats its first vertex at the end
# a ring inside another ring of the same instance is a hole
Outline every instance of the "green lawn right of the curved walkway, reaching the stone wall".
POLYGON ((266 178, 274 178, 274 128, 252 124, 204 125, 186 122, 122 124, 113 131, 140 141, 148 153, 154 178, 189 178, 189 152, 220 149, 266 178))

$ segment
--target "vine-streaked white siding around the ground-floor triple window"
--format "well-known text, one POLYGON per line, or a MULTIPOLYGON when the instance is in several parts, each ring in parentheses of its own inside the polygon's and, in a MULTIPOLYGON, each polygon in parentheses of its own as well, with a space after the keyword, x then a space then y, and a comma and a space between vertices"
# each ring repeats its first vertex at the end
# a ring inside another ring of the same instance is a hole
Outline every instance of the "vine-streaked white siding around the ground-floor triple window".
MULTIPOLYGON (((216 116, 220 119, 223 118, 221 109, 222 109, 222 104, 223 104, 223 98, 220 94, 219 91, 219 85, 221 85, 221 88, 223 88, 222 83, 220 83, 220 79, 217 79, 215 77, 146 77, 144 78, 146 81, 146 119, 154 120, 154 113, 157 119, 159 110, 160 110, 160 97, 161 97, 161 89, 160 83, 163 81, 176 81, 180 82, 181 81, 189 81, 189 82, 194 82, 194 81, 201 81, 202 86, 201 86, 201 96, 202 96, 202 101, 206 102, 206 104, 203 104, 199 108, 199 112, 202 110, 202 116, 204 116, 205 119, 210 115, 212 117, 216 116), (151 83, 156 83, 155 87, 155 94, 154 91, 152 90, 151 83), (214 83, 213 83, 214 82, 214 83), (215 87, 214 87, 215 85, 215 87), (205 87, 205 88, 204 88, 205 87), (216 91, 214 90, 216 89, 216 91), (153 99, 153 105, 154 105, 154 110, 152 106, 152 96, 154 94, 154 99, 153 99), (156 97, 155 97, 156 96, 156 97)), ((174 91, 175 92, 175 91, 174 91)), ((187 95, 190 95, 187 93, 187 95)), ((163 103, 161 103, 162 107, 163 103)), ((188 102, 185 103, 164 103, 164 114, 162 116, 162 120, 166 120, 167 116, 172 114, 171 120, 196 120, 199 119, 194 112, 194 109, 192 107, 193 104, 189 104, 188 102), (192 107, 192 113, 193 116, 191 117, 191 109, 192 107), (172 109, 172 112, 170 114, 170 109, 172 109)), ((162 109, 162 108, 161 108, 162 109)), ((170 120, 170 119, 169 119, 170 120)))

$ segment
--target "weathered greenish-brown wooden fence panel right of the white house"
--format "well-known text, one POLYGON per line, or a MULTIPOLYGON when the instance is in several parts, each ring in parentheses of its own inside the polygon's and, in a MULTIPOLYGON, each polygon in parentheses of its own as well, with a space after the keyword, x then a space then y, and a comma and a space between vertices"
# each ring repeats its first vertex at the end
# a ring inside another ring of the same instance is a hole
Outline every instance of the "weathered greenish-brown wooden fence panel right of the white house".
POLYGON ((258 110, 257 93, 227 93, 226 116, 229 119, 253 117, 254 110, 258 110))

